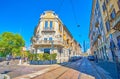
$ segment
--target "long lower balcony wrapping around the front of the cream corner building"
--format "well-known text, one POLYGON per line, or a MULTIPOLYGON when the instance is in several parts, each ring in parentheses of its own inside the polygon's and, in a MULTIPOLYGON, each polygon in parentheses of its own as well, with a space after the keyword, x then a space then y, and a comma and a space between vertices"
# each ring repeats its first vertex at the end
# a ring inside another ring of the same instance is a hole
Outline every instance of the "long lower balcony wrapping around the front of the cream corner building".
MULTIPOLYGON (((34 47, 51 47, 52 42, 50 40, 39 40, 34 43, 34 47)), ((64 47, 64 43, 62 41, 53 40, 54 47, 64 47)))

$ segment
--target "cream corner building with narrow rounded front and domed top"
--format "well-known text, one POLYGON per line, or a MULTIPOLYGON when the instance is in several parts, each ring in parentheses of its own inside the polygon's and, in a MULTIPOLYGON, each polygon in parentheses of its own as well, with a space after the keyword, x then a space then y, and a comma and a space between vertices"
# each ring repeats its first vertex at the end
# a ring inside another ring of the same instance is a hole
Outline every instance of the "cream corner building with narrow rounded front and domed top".
POLYGON ((35 28, 31 52, 57 53, 58 62, 65 62, 80 55, 81 49, 59 17, 53 11, 45 11, 35 28))

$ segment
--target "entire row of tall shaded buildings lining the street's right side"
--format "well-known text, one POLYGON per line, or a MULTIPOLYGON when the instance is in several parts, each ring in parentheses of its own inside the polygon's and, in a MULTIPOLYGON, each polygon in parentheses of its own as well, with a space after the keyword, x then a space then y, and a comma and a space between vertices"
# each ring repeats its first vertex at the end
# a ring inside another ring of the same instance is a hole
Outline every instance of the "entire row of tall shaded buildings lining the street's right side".
POLYGON ((93 0, 89 37, 98 59, 120 62, 120 0, 93 0))

